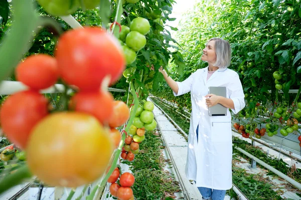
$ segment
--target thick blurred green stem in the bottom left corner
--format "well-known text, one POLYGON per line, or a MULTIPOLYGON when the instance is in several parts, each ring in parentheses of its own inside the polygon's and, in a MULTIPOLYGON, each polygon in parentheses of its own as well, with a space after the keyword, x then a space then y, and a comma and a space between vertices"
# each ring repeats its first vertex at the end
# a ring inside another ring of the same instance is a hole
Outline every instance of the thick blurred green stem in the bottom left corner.
POLYGON ((27 165, 17 169, 14 173, 8 174, 0 180, 0 194, 9 188, 18 185, 24 179, 32 177, 32 174, 27 165))

